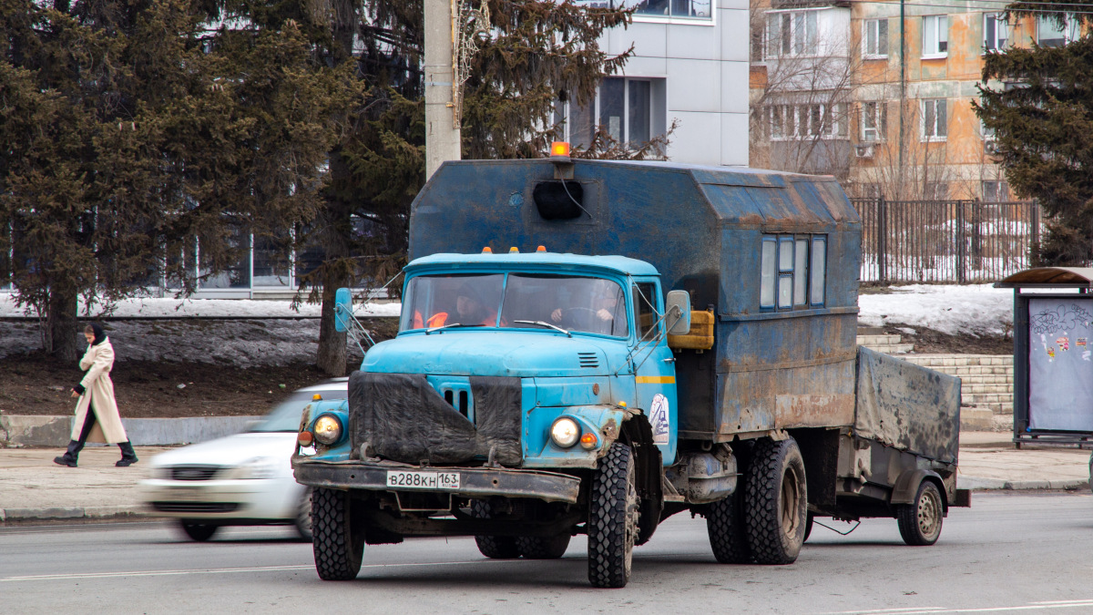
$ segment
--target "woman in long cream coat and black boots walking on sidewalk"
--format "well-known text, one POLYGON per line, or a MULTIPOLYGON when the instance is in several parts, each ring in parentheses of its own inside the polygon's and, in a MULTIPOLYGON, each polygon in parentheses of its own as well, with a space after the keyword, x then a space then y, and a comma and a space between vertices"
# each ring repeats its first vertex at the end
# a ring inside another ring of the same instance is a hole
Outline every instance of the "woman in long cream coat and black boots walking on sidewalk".
POLYGON ((114 347, 97 323, 87 325, 83 329, 83 336, 87 339, 87 351, 80 359, 80 369, 87 373, 80 384, 72 387, 72 396, 80 398, 75 405, 75 420, 72 421, 72 440, 68 451, 54 457, 54 463, 75 467, 84 443, 91 441, 117 444, 121 449, 121 460, 114 465, 132 465, 137 463, 137 453, 121 425, 118 405, 114 401, 114 382, 110 380, 114 347))

